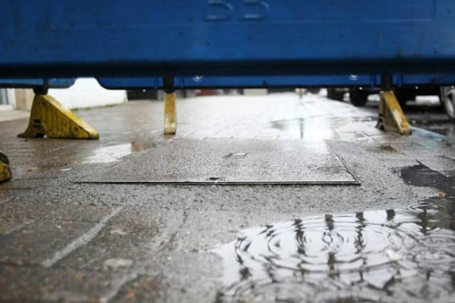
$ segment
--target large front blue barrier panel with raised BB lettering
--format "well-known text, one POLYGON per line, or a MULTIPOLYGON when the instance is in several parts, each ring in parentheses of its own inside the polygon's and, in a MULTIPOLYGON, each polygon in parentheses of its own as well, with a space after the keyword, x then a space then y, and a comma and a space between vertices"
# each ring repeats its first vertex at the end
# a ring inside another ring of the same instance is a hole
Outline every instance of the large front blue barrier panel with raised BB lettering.
POLYGON ((0 77, 451 73, 453 0, 4 0, 0 77))

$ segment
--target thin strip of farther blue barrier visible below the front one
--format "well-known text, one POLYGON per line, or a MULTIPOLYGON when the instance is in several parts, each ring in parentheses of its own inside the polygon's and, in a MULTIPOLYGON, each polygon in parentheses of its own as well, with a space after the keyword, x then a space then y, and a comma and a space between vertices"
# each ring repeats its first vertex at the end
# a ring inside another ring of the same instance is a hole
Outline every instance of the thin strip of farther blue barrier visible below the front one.
MULTIPOLYGON (((68 88, 75 79, 48 79, 50 88, 68 88)), ((107 89, 163 89, 161 77, 100 78, 107 89)), ((406 85, 447 86, 455 84, 455 75, 393 75, 397 87, 406 85)), ((0 87, 41 87, 43 79, 0 79, 0 87)), ((260 87, 380 87, 380 75, 306 75, 306 76, 188 76, 174 77, 178 89, 260 88, 260 87)))

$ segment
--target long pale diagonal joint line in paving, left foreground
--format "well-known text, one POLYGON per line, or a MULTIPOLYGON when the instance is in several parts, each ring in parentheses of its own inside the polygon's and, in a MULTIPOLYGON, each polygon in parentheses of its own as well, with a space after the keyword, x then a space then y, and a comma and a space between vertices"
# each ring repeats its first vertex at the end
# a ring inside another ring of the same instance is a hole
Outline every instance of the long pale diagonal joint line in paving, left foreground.
POLYGON ((97 236, 97 234, 102 230, 102 228, 105 227, 107 221, 109 221, 109 219, 112 219, 112 217, 119 214, 119 212, 122 211, 122 209, 123 206, 119 206, 116 209, 114 209, 114 211, 105 216, 99 223, 90 228, 90 230, 87 231, 87 233, 84 233, 82 236, 69 243, 67 246, 65 246, 65 248, 55 252, 52 258, 44 260, 43 263, 41 263, 41 265, 43 265, 45 268, 50 268, 59 260, 65 258, 65 256, 73 252, 73 250, 79 248, 80 246, 84 246, 90 241, 92 241, 92 239, 95 238, 95 236, 97 236))

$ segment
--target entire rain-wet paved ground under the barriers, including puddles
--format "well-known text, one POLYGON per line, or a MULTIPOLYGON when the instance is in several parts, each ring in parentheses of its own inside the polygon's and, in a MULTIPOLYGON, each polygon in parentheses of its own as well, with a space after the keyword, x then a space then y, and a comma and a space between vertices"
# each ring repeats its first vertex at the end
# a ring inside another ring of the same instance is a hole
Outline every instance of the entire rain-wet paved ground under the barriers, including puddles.
POLYGON ((0 123, 0 302, 455 302, 452 136, 270 94, 180 100, 169 137, 162 106, 78 111, 100 141, 0 123), (357 184, 260 182, 289 172, 357 184))

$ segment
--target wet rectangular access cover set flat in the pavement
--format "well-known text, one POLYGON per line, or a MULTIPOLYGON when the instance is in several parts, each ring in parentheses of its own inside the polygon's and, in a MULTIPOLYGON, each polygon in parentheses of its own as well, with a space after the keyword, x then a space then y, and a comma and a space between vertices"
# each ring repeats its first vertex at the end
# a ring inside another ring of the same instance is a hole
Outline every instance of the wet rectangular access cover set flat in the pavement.
POLYGON ((203 141, 203 148, 200 145, 201 142, 194 139, 174 140, 172 144, 156 146, 80 182, 359 184, 324 142, 312 142, 308 146, 296 140, 217 139, 203 141), (132 170, 132 167, 136 168, 132 170))

